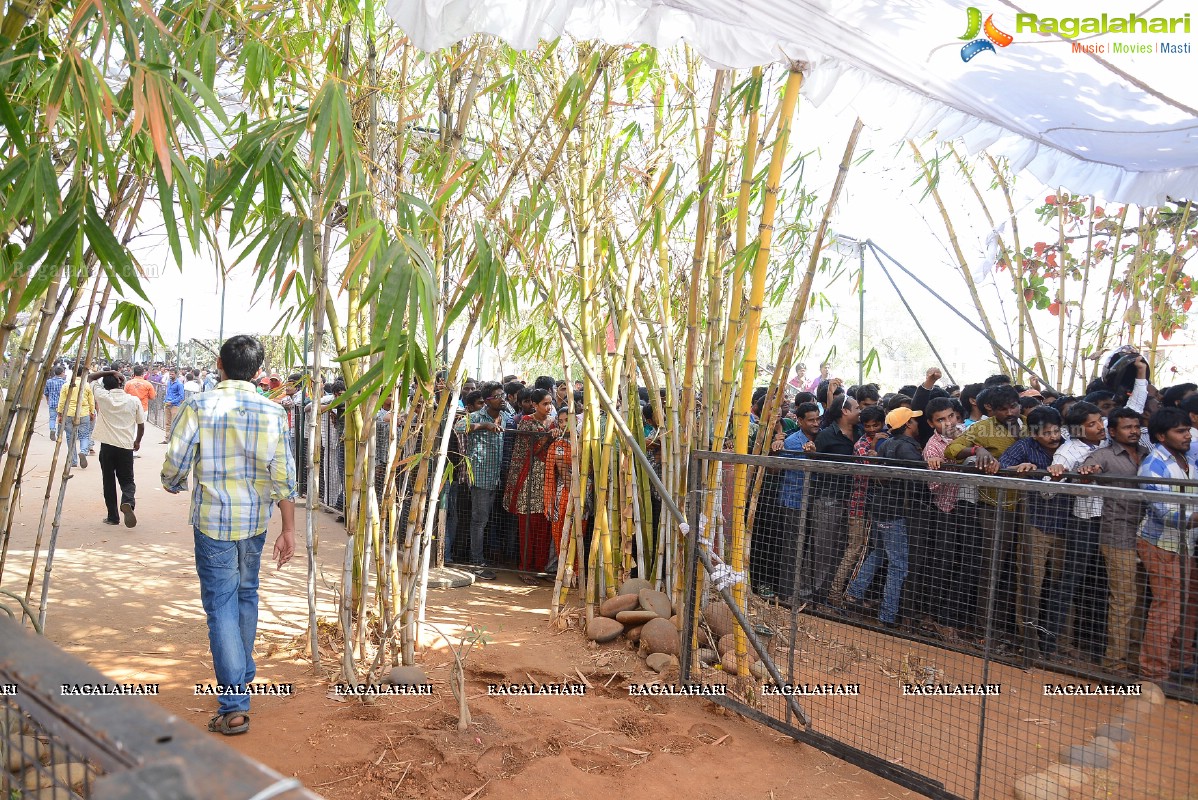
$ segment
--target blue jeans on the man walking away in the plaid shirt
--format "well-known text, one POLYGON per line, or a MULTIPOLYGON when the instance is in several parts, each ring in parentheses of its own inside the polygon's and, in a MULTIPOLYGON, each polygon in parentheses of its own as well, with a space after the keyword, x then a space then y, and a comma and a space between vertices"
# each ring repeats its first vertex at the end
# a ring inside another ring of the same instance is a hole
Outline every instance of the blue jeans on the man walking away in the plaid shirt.
POLYGON ((208 647, 220 714, 249 710, 249 695, 237 691, 254 681, 258 631, 258 568, 266 533, 240 541, 218 541, 195 531, 195 572, 200 602, 208 617, 208 647))

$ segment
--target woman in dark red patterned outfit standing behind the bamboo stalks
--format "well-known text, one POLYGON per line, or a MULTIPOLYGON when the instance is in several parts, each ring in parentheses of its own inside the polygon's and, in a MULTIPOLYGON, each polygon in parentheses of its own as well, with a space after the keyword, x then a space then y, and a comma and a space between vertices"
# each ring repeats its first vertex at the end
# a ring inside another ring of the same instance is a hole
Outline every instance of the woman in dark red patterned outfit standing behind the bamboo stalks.
POLYGON ((549 562, 551 531, 545 503, 545 465, 556 428, 549 418, 553 399, 545 389, 533 389, 533 412, 516 425, 512 466, 503 492, 503 508, 516 515, 520 532, 519 569, 539 572, 549 562))

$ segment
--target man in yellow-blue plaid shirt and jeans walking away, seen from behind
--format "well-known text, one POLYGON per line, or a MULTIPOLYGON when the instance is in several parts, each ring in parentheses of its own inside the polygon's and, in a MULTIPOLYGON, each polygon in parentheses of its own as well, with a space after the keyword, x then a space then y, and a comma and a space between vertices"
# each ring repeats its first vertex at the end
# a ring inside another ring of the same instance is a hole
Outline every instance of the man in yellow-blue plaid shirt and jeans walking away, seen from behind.
POLYGON ((258 572, 272 503, 283 517, 274 541, 278 566, 295 553, 291 431, 283 407, 259 395, 252 383, 262 358, 262 345, 253 337, 234 337, 222 345, 220 383, 180 406, 162 467, 162 485, 171 493, 187 489, 188 474, 195 480, 195 571, 222 687, 208 731, 226 735, 249 729, 243 687, 256 674, 258 572))

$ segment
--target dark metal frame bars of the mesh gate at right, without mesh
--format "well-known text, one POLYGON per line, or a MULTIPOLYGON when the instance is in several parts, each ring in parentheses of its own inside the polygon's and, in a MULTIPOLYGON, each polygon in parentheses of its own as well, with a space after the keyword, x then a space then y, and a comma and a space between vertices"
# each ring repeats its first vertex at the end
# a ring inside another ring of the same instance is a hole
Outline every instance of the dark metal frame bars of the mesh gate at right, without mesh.
MULTIPOLYGON (((701 467, 704 462, 710 462, 710 461, 715 461, 719 463, 746 465, 755 467, 768 466, 780 469, 803 469, 807 473, 823 472, 823 473, 841 473, 841 474, 869 474, 878 478, 883 477, 907 478, 907 479, 914 478, 922 480, 927 480, 928 478, 928 471, 926 468, 913 468, 906 466, 866 465, 861 463, 863 460, 858 457, 846 457, 846 459, 833 457, 827 460, 819 460, 819 459, 791 459, 791 457, 778 457, 778 456, 754 456, 754 455, 742 455, 734 453, 715 453, 710 450, 691 453, 689 463, 690 479, 688 481, 688 485, 691 487, 690 492, 688 493, 688 503, 689 503, 688 519, 690 526, 690 532, 688 534, 688 547, 690 550, 690 553, 688 557, 686 587, 685 587, 686 602, 685 607, 683 608, 683 631, 685 631, 686 635, 682 637, 682 653, 679 657, 679 668, 680 668, 679 671, 682 673, 682 681, 686 683, 688 685, 695 685, 695 683, 691 680, 691 665, 695 659, 695 653, 694 653, 695 647, 694 647, 694 638, 690 635, 690 632, 695 630, 695 608, 697 605, 696 601, 698 592, 698 565, 700 563, 702 563, 708 574, 714 571, 710 557, 706 552, 704 547, 700 546, 701 508, 700 503, 696 502, 697 498, 702 497, 703 491, 707 489, 704 484, 704 471, 701 467)), ((1028 491, 1029 484, 1033 483, 1027 478, 1002 478, 994 475, 982 475, 976 473, 969 474, 963 472, 954 472, 954 481, 961 485, 972 485, 978 487, 985 486, 990 489, 997 489, 1000 491, 1002 490, 1028 491)), ((798 551, 797 558, 799 563, 801 563, 804 552, 803 531, 805 531, 806 528, 805 517, 809 507, 806 499, 807 499, 807 491, 810 487, 810 483, 811 481, 809 480, 803 481, 800 535, 797 545, 797 551, 798 551)), ((1175 484, 1179 481, 1164 479, 1156 483, 1175 484)), ((1053 484, 1052 490, 1054 493, 1070 495, 1070 496, 1093 496, 1094 493, 1096 493, 1095 486, 1067 484, 1067 483, 1053 484)), ((1102 496, 1125 497, 1129 499, 1140 499, 1148 502, 1178 502, 1178 503, 1186 503, 1188 501, 1188 503, 1193 503, 1192 496, 1187 498, 1186 495, 1182 495, 1180 492, 1162 493, 1158 491, 1117 489, 1117 487, 1102 487, 1097 491, 1102 496)), ((1000 510, 997 514, 997 523, 998 526, 1002 526, 1004 517, 1004 513, 1002 511, 1003 508, 1002 503, 999 503, 998 508, 1000 510)), ((997 572, 999 569, 999 558, 996 551, 999 540, 1000 540, 999 537, 997 535, 992 537, 992 552, 990 553, 991 556, 990 595, 987 600, 990 613, 987 613, 987 618, 993 616, 992 611, 996 601, 996 589, 997 589, 997 577, 998 577, 997 572)), ((748 558, 748 554, 745 556, 745 558, 748 558)), ((728 594, 727 590, 721 592, 721 594, 724 594, 725 599, 727 600, 727 594, 728 594)), ((770 672, 774 680, 778 681, 776 667, 767 655, 768 654, 767 648, 762 644, 756 632, 754 631, 752 626, 749 625, 748 618, 740 612, 740 610, 734 608, 731 602, 728 604, 728 607, 737 620, 737 625, 744 631, 746 638, 749 640, 749 643, 752 646, 754 650, 756 650, 757 654, 762 656, 762 662, 766 665, 767 669, 770 672)), ((792 617, 798 616, 797 608, 798 606, 792 607, 792 617)), ((872 626, 867 624, 861 624, 857 620, 845 619, 839 617, 835 618, 835 620, 842 624, 848 624, 872 630, 872 626)), ((987 620, 987 625, 990 622, 987 620)), ((914 638, 909 636, 903 636, 902 634, 897 632, 890 632, 889 635, 896 638, 914 638)), ((980 656, 982 660, 982 683, 987 681, 990 674, 990 665, 994 661, 998 661, 1000 663, 1010 663, 1011 666, 1016 666, 1019 668, 1040 666, 1035 665, 1027 657, 1023 657, 1022 660, 997 657, 996 654, 991 653, 990 650, 988 642, 991 637, 987 636, 986 638, 987 638, 987 646, 985 651, 980 656)), ((938 644, 938 647, 944 647, 944 646, 938 644)), ((964 650, 952 647, 944 647, 944 649, 951 649, 964 653, 964 650)), ((969 655, 976 657, 976 653, 969 653, 969 655)), ((792 661, 793 657, 794 657, 794 647, 792 643, 791 646, 792 661)), ((791 663, 789 667, 793 671, 793 663, 791 663)), ((1100 677, 1085 669, 1077 669, 1077 668, 1070 669, 1070 668, 1064 668, 1060 665, 1052 665, 1051 668, 1057 672, 1072 673, 1079 677, 1101 678, 1102 680, 1111 683, 1109 675, 1100 677)), ((781 681, 779 681, 779 684, 781 684, 781 681)), ((758 709, 746 705, 745 703, 742 703, 736 698, 726 695, 709 696, 707 697, 707 699, 710 699, 716 704, 722 705, 724 708, 733 710, 737 714, 742 714, 745 717, 754 720, 755 722, 760 722, 761 725, 779 731, 780 733, 785 733, 786 735, 793 738, 795 741, 811 745, 812 747, 816 747, 831 756, 841 758, 842 760, 846 760, 855 766, 860 766, 865 770, 869 770, 870 772, 873 772, 881 777, 893 781, 898 786, 912 789, 914 792, 919 792, 925 796, 933 798, 934 800, 966 800, 961 795, 954 794, 948 789, 945 789, 943 782, 937 781, 927 775, 922 775, 921 772, 894 764, 879 756, 853 747, 833 737, 828 737, 825 734, 807 729, 807 727, 810 726, 807 715, 801 710, 801 707, 798 704, 797 698, 792 696, 787 696, 788 704, 787 704, 786 720, 775 719, 768 714, 762 713, 758 709), (798 717, 799 722, 801 723, 801 727, 791 721, 792 711, 798 717)), ((980 772, 984 764, 982 749, 986 734, 987 699, 988 698, 985 695, 981 697, 981 708, 980 708, 979 728, 978 728, 978 760, 976 760, 978 776, 974 781, 975 793, 980 790, 981 787, 980 772)))

